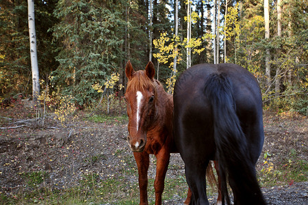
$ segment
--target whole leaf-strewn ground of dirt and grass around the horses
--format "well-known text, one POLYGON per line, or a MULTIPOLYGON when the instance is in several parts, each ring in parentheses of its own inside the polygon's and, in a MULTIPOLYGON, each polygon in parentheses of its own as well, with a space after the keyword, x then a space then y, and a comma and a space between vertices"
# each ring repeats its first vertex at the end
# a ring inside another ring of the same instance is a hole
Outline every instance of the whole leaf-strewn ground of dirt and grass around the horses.
MULTIPOLYGON (((0 204, 138 204, 138 171, 127 145, 127 118, 95 115, 66 126, 14 107, 0 112, 0 204), (107 120, 106 120, 107 119, 107 120), (12 128, 12 127, 16 128, 12 128)), ((268 204, 308 204, 308 119, 297 113, 264 112, 264 149, 257 163, 268 204)), ((155 157, 149 168, 154 203, 155 157)), ((209 187, 209 186, 208 186, 209 187)), ((183 204, 188 186, 183 161, 172 154, 164 204, 183 204)), ((217 191, 209 187, 215 203, 217 191)))

